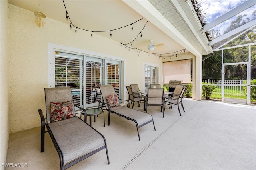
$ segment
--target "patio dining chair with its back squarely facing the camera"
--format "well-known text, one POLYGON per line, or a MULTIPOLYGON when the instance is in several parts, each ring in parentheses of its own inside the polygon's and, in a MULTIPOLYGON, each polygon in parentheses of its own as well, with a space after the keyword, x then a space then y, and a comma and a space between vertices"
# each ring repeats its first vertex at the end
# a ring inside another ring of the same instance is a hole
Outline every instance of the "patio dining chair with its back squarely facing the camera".
POLYGON ((148 106, 161 106, 161 112, 164 117, 164 89, 163 88, 149 88, 146 98, 146 111, 148 106))

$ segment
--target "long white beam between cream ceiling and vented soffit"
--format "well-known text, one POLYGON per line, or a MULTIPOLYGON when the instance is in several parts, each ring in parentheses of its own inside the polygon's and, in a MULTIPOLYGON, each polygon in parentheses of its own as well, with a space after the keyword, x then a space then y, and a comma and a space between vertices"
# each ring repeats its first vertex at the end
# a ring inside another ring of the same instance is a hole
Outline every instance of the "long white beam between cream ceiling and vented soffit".
POLYGON ((122 0, 192 54, 202 54, 147 0, 122 0))

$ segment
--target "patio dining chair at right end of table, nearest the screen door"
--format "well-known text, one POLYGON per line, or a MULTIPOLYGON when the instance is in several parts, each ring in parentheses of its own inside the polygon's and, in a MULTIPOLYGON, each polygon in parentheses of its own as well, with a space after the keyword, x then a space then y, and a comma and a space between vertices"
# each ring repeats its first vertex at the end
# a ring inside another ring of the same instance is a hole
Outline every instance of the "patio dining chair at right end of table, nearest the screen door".
MULTIPOLYGON (((178 86, 178 85, 177 85, 178 86)), ((176 88, 177 88, 176 86, 176 88)), ((176 89, 175 88, 175 89, 176 89)), ((180 90, 180 87, 178 87, 180 90)), ((180 107, 179 107, 179 104, 181 104, 181 107, 183 109, 183 111, 185 112, 184 110, 184 106, 183 106, 183 102, 182 102, 182 99, 184 98, 184 92, 186 91, 187 87, 186 86, 183 86, 183 88, 180 90, 180 94, 177 95, 177 94, 174 94, 173 96, 171 96, 169 99, 165 100, 165 104, 168 104, 170 105, 169 106, 169 109, 172 109, 172 105, 178 105, 178 110, 179 110, 179 113, 180 113, 180 107)), ((178 92, 178 90, 176 90, 176 92, 178 92)), ((174 90, 175 92, 175 90, 174 90)), ((180 116, 181 116, 181 113, 180 113, 180 116)))

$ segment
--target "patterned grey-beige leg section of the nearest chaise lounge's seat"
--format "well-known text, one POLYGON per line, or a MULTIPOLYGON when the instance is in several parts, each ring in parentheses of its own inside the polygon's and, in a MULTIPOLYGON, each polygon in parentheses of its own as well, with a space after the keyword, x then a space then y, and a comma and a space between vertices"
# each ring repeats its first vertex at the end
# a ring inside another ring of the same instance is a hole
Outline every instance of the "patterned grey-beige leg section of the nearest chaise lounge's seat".
POLYGON ((76 116, 48 125, 62 151, 64 165, 105 146, 103 137, 76 116))

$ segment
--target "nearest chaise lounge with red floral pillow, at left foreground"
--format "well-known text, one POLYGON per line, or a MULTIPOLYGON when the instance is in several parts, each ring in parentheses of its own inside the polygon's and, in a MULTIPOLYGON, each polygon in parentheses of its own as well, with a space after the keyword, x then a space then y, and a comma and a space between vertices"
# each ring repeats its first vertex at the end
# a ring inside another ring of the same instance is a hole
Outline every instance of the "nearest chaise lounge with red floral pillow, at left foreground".
POLYGON ((84 108, 76 106, 84 112, 84 121, 76 116, 71 88, 44 88, 44 91, 46 119, 42 110, 38 110, 41 118, 41 152, 44 152, 44 136, 48 132, 60 157, 61 170, 103 149, 106 149, 109 164, 105 137, 86 123, 84 108))

